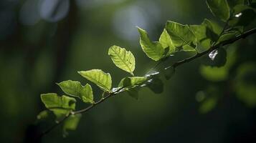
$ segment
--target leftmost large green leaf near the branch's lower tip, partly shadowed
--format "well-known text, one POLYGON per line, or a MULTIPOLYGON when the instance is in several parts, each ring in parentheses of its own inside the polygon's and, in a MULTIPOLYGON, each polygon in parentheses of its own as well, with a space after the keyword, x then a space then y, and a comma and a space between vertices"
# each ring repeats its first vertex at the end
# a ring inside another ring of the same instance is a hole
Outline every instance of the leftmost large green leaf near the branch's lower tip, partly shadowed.
POLYGON ((75 110, 76 100, 72 97, 67 97, 63 95, 62 97, 57 96, 57 94, 41 94, 41 100, 44 106, 52 111, 57 119, 64 117, 69 114, 72 110, 75 110))

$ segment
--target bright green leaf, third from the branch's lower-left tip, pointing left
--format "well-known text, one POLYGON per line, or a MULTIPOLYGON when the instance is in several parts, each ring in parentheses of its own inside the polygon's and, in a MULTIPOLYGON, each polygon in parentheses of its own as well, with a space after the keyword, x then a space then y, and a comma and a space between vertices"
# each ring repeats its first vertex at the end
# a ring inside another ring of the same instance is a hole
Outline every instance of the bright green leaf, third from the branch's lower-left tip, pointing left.
POLYGON ((103 89, 105 92, 111 91, 112 79, 110 74, 106 74, 101 69, 92 69, 89 71, 78 71, 78 73, 85 77, 85 79, 90 80, 94 84, 98 85, 100 89, 103 89))

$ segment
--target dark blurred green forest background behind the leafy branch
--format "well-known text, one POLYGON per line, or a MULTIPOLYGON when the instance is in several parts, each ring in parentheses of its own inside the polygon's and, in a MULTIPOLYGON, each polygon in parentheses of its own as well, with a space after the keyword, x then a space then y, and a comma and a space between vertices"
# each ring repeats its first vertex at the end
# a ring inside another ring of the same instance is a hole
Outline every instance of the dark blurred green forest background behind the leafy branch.
MULTIPOLYGON (((108 56, 113 44, 131 50, 135 74, 144 75, 155 63, 141 50, 136 26, 156 41, 167 20, 204 18, 215 19, 204 0, 1 0, 0 142, 33 142, 51 125, 36 121, 45 109, 39 94, 63 94, 55 83, 67 79, 86 84, 77 71, 103 69, 117 86, 128 74, 108 56)), ((255 142, 255 38, 229 46, 221 68, 196 59, 164 81, 162 94, 141 89, 138 101, 120 94, 83 114, 68 137, 58 127, 38 142, 255 142)))

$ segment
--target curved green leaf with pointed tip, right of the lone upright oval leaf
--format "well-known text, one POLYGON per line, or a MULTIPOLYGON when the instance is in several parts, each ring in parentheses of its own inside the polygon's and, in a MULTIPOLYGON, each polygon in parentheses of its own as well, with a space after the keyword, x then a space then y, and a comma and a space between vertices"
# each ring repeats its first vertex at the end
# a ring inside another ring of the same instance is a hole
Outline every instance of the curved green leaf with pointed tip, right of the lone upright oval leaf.
POLYGON ((142 50, 146 53, 146 55, 153 59, 154 61, 158 61, 164 55, 163 46, 158 41, 151 41, 148 37, 148 34, 145 30, 138 27, 138 32, 140 33, 140 44, 142 50))

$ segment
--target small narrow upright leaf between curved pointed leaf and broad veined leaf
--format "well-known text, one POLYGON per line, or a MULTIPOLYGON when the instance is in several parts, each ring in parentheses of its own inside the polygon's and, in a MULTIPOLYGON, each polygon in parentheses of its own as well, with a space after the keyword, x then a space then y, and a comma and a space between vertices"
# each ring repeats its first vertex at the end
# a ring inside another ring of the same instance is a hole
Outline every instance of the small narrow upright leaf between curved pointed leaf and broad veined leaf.
POLYGON ((159 42, 164 49, 168 49, 167 55, 173 54, 176 51, 176 47, 172 43, 171 37, 167 33, 166 29, 163 29, 163 33, 159 38, 159 42))

